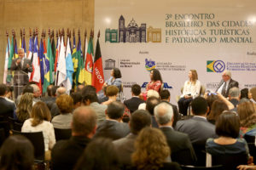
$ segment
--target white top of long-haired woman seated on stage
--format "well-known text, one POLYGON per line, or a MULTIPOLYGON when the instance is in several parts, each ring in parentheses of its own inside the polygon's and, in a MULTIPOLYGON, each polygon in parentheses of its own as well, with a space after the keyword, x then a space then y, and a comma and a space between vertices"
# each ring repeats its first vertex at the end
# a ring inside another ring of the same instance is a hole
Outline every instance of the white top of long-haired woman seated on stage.
POLYGON ((183 98, 184 95, 191 94, 193 99, 195 99, 197 96, 200 95, 200 90, 201 90, 201 82, 198 80, 195 82, 195 84, 192 84, 188 80, 184 83, 184 88, 183 88, 183 94, 181 97, 183 98))

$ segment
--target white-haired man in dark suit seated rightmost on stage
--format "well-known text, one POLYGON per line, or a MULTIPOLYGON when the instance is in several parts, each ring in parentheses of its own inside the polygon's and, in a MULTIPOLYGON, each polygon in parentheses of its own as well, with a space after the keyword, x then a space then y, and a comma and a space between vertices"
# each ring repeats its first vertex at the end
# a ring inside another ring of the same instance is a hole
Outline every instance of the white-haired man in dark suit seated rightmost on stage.
POLYGON ((230 88, 233 87, 238 88, 238 82, 231 78, 230 71, 224 71, 222 74, 222 80, 219 82, 216 92, 227 98, 229 96, 230 88))

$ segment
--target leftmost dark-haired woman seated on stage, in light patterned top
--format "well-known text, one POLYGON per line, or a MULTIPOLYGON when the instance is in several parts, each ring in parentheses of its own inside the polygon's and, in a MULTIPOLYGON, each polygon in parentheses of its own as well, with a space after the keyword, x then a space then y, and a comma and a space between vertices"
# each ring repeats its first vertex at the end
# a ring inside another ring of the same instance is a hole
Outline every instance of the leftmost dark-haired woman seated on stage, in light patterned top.
POLYGON ((122 80, 121 80, 121 71, 119 70, 119 68, 113 68, 113 70, 111 71, 111 77, 104 83, 104 87, 108 86, 108 85, 114 85, 116 87, 119 88, 119 90, 121 89, 121 85, 122 85, 122 80))

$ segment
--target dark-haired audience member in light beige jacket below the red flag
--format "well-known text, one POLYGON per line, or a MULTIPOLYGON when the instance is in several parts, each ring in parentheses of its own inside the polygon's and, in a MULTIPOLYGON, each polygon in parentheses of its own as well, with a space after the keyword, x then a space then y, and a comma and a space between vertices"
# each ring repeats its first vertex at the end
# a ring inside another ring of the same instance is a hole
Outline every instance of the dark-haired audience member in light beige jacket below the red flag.
POLYGON ((90 107, 96 112, 97 123, 100 123, 106 120, 105 111, 108 106, 100 105, 98 103, 96 92, 93 90, 92 91, 88 90, 87 92, 83 90, 82 96, 83 96, 83 100, 82 100, 83 105, 90 105, 90 107))

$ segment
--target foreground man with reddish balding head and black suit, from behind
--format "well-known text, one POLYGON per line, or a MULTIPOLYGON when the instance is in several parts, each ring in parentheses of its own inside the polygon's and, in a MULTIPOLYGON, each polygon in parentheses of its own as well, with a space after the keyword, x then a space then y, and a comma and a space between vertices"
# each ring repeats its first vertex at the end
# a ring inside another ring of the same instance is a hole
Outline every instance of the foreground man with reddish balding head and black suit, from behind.
POLYGON ((73 169, 96 132, 96 113, 88 106, 73 111, 72 137, 58 141, 52 152, 53 170, 73 169))

